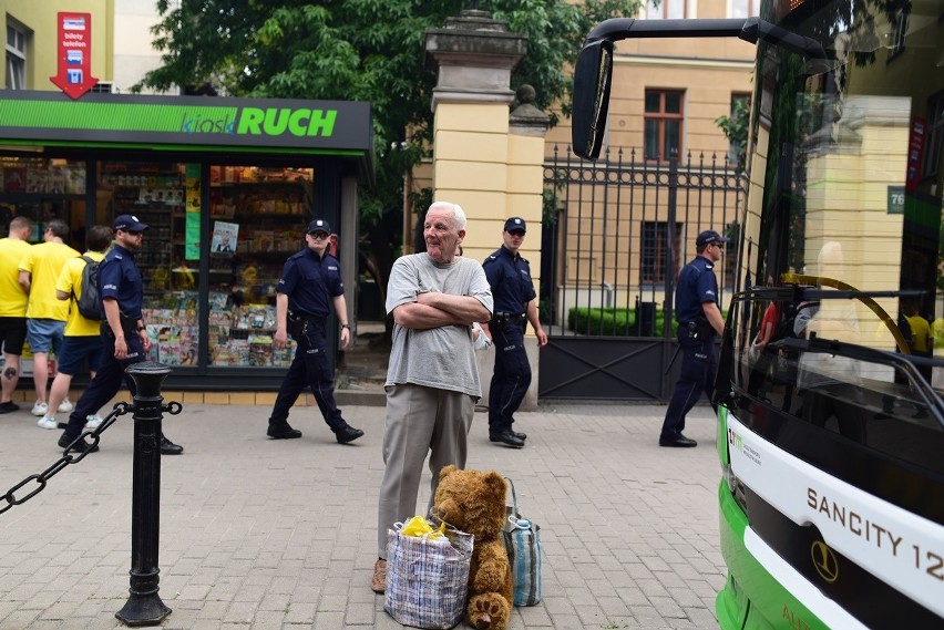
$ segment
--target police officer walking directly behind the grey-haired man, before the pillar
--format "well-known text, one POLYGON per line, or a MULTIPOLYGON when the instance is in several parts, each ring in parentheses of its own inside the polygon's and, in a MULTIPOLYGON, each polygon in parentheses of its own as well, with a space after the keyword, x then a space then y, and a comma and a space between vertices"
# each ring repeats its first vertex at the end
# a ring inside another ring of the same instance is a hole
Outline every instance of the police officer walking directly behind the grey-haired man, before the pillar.
POLYGON ((513 448, 524 446, 527 438, 524 433, 512 431, 512 423, 531 384, 531 364, 524 350, 529 322, 538 345, 547 345, 547 335, 537 320, 531 266, 517 252, 526 231, 523 218, 511 217, 502 230, 501 249, 482 264, 495 300, 494 316, 488 327, 495 347, 495 371, 489 389, 489 440, 513 448))

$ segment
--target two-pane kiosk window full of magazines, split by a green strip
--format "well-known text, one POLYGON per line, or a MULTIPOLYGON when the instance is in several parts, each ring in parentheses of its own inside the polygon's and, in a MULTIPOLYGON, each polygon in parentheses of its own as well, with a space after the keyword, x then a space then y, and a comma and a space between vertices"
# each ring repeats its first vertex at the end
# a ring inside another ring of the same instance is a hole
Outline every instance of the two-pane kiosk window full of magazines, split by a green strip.
POLYGON ((197 164, 104 163, 107 219, 136 215, 151 227, 136 255, 153 361, 198 363, 201 270, 208 273, 209 366, 287 368, 295 351, 273 345, 276 286, 311 218, 314 169, 209 167, 209 228, 202 233, 197 164), (205 246, 202 246, 205 242, 205 246))

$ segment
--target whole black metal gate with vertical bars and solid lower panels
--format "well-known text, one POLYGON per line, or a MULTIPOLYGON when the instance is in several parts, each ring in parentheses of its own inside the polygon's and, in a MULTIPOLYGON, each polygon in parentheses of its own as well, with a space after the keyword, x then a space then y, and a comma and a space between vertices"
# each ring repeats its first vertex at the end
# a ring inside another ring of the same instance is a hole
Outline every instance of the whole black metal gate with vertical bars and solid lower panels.
POLYGON ((743 220, 743 177, 704 154, 684 163, 607 151, 596 162, 554 147, 544 163, 538 397, 666 401, 675 280, 695 257, 695 237, 731 239, 718 265, 721 308, 733 285, 743 220), (615 158, 614 158, 615 157, 615 158))

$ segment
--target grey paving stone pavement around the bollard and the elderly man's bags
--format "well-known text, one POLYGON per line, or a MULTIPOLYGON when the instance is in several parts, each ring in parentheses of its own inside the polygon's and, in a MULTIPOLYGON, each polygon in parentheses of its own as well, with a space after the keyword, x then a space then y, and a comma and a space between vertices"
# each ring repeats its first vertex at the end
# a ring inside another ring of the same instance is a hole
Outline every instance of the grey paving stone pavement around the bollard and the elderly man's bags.
MULTIPOLYGON (((366 435, 343 446, 316 407, 291 415, 300 440, 267 440, 268 411, 187 405, 164 419, 186 452, 162 461, 160 596, 173 609, 162 627, 402 628, 370 590, 383 409, 346 407, 366 435)), ((542 527, 544 600, 514 609, 511 630, 718 627, 715 421, 696 407, 686 433, 699 447, 659 448, 664 413, 541 405, 519 414, 529 438, 514 451, 489 442, 476 412, 468 466, 511 477, 542 527)), ((99 453, 0 514, 0 630, 124 628, 132 424, 122 416, 99 453)), ((0 493, 50 466, 59 435, 25 411, 0 415, 0 493)), ((427 473, 418 512, 428 488, 427 473)))

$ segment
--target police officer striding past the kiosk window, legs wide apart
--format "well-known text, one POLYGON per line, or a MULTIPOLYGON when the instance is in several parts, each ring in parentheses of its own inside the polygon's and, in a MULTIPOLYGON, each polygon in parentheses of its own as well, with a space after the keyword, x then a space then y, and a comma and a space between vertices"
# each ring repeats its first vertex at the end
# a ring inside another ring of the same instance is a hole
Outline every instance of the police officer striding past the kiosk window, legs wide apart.
POLYGON ((301 432, 288 424, 288 410, 298 400, 307 384, 315 394, 325 422, 335 432, 340 444, 363 435, 341 417, 335 403, 335 383, 328 361, 325 327, 331 308, 341 322, 341 348, 351 339, 345 286, 338 259, 328 254, 331 226, 324 219, 308 224, 305 235, 307 247, 289 257, 278 281, 276 296, 275 347, 285 348, 289 334, 298 343, 288 373, 281 382, 269 427, 266 434, 273 440, 301 437, 301 432))

